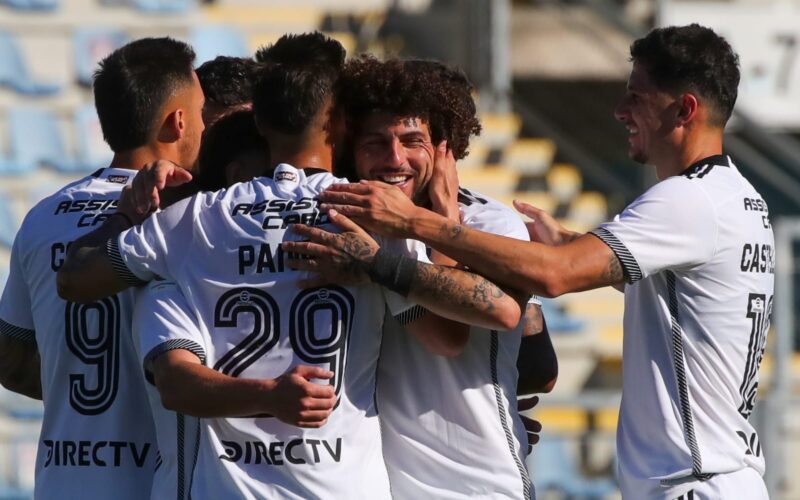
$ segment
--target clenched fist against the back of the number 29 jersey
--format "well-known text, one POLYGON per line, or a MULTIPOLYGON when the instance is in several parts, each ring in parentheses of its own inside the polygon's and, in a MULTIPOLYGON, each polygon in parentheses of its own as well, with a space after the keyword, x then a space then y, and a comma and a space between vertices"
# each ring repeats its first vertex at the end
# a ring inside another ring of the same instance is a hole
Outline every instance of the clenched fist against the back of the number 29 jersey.
POLYGON ((299 365, 275 379, 267 411, 281 422, 297 427, 325 425, 336 405, 332 385, 312 382, 330 380, 333 372, 319 366, 299 365))

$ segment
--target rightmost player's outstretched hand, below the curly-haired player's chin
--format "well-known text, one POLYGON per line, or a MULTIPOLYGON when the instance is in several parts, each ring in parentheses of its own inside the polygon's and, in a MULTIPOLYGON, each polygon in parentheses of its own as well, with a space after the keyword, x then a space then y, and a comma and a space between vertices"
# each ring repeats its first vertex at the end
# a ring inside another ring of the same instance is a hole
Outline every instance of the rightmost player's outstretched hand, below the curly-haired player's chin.
POLYGON ((409 215, 417 208, 398 187, 380 181, 334 184, 319 199, 323 210, 336 210, 368 231, 395 238, 409 236, 409 215))

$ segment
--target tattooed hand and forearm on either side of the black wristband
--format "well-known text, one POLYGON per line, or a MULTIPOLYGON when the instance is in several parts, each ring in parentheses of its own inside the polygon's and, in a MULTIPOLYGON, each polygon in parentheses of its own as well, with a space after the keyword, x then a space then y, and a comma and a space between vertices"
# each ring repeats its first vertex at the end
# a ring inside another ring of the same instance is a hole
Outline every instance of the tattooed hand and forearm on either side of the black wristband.
MULTIPOLYGON (((314 272, 336 267, 363 276, 378 251, 377 243, 347 218, 336 212, 329 216, 345 232, 296 224, 295 233, 309 241, 282 244, 285 251, 306 257, 293 259, 289 265, 314 272)), ((421 262, 417 263, 408 298, 444 318, 494 330, 516 327, 527 302, 527 296, 510 295, 475 273, 421 262)))

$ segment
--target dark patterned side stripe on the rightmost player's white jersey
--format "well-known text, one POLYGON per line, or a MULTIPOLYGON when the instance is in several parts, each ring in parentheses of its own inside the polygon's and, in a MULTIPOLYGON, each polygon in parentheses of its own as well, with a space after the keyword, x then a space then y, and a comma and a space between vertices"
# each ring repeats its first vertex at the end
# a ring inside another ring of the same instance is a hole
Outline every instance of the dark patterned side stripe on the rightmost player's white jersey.
POLYGON ((678 294, 675 291, 675 274, 672 271, 665 271, 667 278, 667 290, 669 293, 669 315, 672 323, 672 355, 675 366, 675 376, 678 379, 678 396, 681 403, 681 419, 683 420, 683 431, 686 444, 692 453, 692 475, 700 478, 703 476, 703 460, 700 457, 700 448, 697 446, 697 439, 694 435, 694 422, 692 418, 692 407, 689 401, 689 387, 686 382, 686 369, 683 357, 683 329, 678 315, 678 294))

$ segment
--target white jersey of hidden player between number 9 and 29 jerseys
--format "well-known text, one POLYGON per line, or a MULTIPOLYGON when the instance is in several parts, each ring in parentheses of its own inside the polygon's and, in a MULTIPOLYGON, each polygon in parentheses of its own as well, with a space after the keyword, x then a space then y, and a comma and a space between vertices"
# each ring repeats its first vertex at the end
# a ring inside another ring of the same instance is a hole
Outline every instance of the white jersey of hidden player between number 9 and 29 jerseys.
POLYGON ((153 280, 136 296, 133 340, 140 369, 147 380, 147 396, 158 440, 158 462, 150 498, 189 498, 200 446, 201 420, 167 410, 161 404, 150 362, 171 349, 187 349, 205 364, 204 344, 196 320, 178 285, 153 280))

